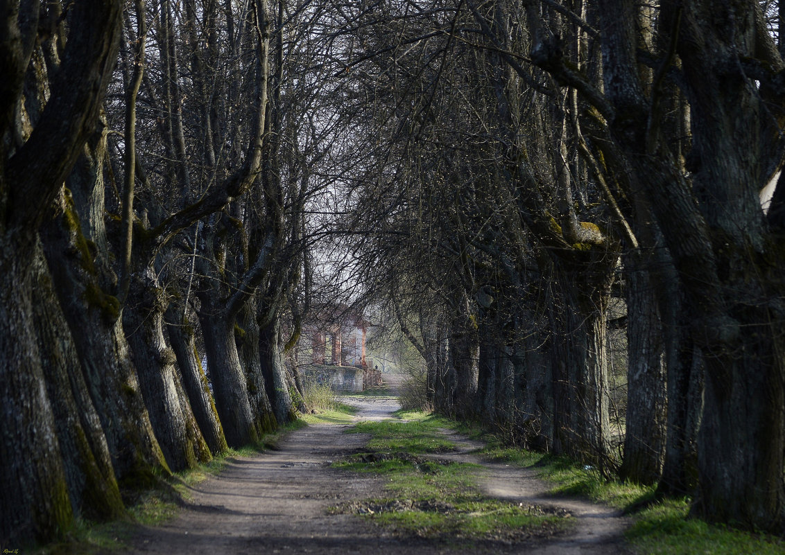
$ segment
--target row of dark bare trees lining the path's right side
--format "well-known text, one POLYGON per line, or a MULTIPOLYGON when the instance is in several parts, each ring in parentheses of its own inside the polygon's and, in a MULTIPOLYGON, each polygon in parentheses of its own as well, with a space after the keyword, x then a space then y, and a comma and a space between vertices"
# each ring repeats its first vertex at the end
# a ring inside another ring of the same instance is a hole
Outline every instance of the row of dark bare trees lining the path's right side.
POLYGON ((352 13, 349 71, 377 160, 353 192, 379 224, 357 256, 422 354, 434 408, 694 495, 701 517, 783 530, 779 10, 352 13))

